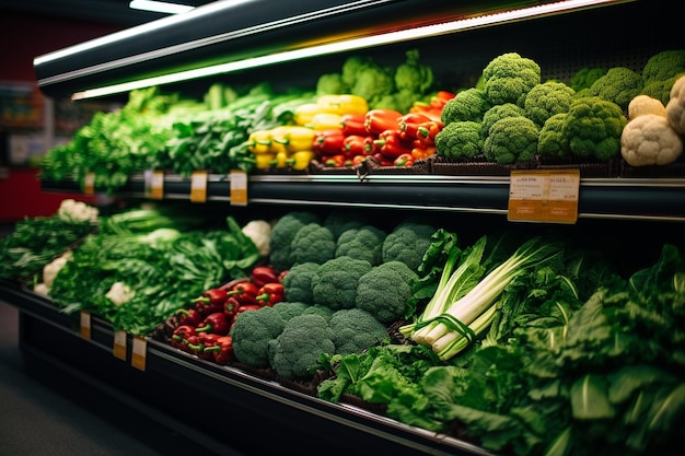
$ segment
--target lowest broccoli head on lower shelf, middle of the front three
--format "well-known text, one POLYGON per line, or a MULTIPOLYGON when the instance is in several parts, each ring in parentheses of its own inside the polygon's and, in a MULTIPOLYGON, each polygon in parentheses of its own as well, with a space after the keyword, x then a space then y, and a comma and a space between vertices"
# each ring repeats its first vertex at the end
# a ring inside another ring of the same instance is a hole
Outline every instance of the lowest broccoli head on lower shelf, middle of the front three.
POLYGON ((335 343, 328 321, 321 315, 291 318, 269 343, 271 367, 285 379, 311 377, 322 354, 335 354, 335 343))

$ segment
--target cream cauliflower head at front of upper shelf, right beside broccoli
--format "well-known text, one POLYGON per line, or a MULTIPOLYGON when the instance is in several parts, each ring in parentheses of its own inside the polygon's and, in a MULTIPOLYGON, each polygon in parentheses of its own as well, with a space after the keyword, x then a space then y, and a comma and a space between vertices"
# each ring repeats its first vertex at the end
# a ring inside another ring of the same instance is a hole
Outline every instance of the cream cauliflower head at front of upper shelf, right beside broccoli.
POLYGON ((620 155, 630 166, 667 165, 683 153, 683 140, 669 120, 645 114, 630 120, 620 136, 620 155))

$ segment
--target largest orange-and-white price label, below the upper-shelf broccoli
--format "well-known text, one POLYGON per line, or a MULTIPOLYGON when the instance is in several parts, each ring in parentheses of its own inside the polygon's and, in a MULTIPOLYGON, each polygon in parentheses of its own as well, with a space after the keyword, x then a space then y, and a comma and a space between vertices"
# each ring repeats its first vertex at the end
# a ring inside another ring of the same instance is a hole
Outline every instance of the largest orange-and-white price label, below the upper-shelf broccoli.
POLYGON ((519 222, 576 223, 580 169, 513 169, 508 219, 519 222))

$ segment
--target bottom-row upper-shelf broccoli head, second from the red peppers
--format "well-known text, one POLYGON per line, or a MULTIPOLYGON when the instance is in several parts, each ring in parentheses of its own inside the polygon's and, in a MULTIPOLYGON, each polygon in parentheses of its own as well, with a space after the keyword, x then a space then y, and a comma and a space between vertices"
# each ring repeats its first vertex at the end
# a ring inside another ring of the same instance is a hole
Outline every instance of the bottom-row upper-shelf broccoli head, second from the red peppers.
POLYGON ((537 152, 539 127, 527 117, 504 117, 490 127, 483 154, 500 165, 532 160, 537 152))

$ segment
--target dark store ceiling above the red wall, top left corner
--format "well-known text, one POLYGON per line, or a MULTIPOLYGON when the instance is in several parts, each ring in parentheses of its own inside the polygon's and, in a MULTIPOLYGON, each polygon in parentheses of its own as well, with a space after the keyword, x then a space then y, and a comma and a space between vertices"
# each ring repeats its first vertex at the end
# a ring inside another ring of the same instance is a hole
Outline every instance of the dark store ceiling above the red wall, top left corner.
MULTIPOLYGON (((212 2, 212 0, 167 1, 194 7, 212 2)), ((14 11, 102 23, 123 28, 166 16, 166 14, 132 10, 128 7, 129 3, 130 0, 0 0, 0 15, 2 11, 14 11)))

